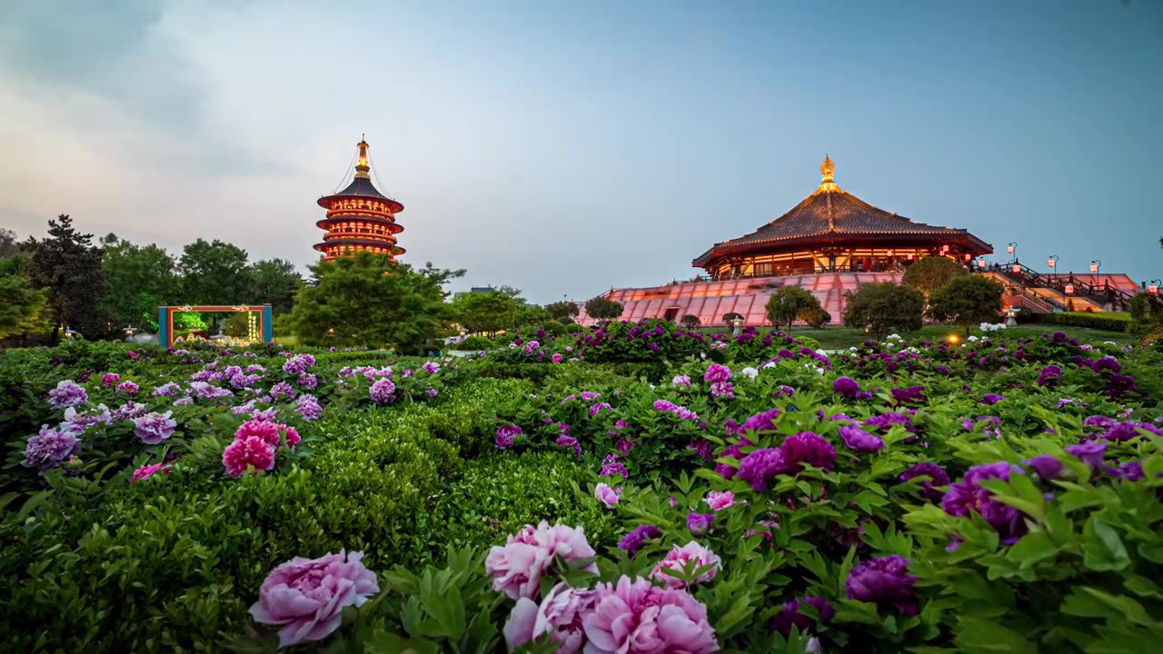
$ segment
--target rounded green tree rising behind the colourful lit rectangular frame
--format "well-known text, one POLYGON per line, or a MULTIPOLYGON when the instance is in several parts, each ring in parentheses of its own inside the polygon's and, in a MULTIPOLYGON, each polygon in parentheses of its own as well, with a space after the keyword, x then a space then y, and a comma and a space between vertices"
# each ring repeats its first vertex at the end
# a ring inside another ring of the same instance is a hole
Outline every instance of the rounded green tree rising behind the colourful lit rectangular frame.
POLYGON ((252 294, 247 250, 217 239, 199 239, 183 248, 178 272, 185 304, 233 306, 252 294))

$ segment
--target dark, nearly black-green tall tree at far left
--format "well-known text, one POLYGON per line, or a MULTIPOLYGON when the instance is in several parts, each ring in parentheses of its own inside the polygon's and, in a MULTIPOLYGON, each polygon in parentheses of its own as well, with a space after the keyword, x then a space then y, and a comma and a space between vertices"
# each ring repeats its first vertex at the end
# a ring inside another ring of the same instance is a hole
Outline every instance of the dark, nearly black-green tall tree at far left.
POLYGON ((101 248, 93 244, 93 235, 77 232, 72 219, 62 214, 49 220, 48 239, 29 239, 22 247, 31 253, 28 278, 48 293, 52 342, 59 339, 62 325, 88 339, 106 335, 109 326, 100 303, 107 284, 101 248))

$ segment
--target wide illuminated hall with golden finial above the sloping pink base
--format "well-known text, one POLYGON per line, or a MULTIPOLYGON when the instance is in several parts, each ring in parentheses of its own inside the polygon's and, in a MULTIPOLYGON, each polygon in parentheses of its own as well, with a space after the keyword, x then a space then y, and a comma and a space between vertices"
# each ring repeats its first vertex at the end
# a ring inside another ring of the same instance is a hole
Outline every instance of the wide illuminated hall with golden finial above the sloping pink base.
POLYGON ((926 256, 964 264, 993 249, 964 229, 889 213, 846 192, 827 156, 814 193, 751 234, 715 243, 692 263, 712 279, 820 272, 892 272, 926 256))

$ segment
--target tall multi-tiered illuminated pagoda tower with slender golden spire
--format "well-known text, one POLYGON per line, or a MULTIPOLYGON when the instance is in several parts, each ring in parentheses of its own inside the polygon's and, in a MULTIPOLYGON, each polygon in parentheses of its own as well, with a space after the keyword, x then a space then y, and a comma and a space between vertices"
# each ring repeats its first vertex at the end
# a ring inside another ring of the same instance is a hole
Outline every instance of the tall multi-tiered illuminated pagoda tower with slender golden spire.
POLYGON ((404 232, 395 222, 395 214, 404 211, 404 205, 376 190, 368 163, 368 142, 361 138, 357 147, 359 159, 351 183, 334 196, 319 199, 327 216, 315 225, 327 234, 314 248, 322 253, 323 261, 359 251, 386 254, 388 261, 395 261, 405 253, 395 242, 395 235, 404 232))

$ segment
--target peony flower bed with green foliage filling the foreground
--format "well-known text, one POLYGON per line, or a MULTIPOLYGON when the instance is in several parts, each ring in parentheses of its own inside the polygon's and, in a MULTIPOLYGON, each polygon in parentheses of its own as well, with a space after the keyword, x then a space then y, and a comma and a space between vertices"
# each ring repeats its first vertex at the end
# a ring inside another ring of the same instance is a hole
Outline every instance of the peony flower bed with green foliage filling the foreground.
POLYGON ((1151 651, 1158 346, 658 327, 477 361, 6 354, 3 642, 1151 651))

